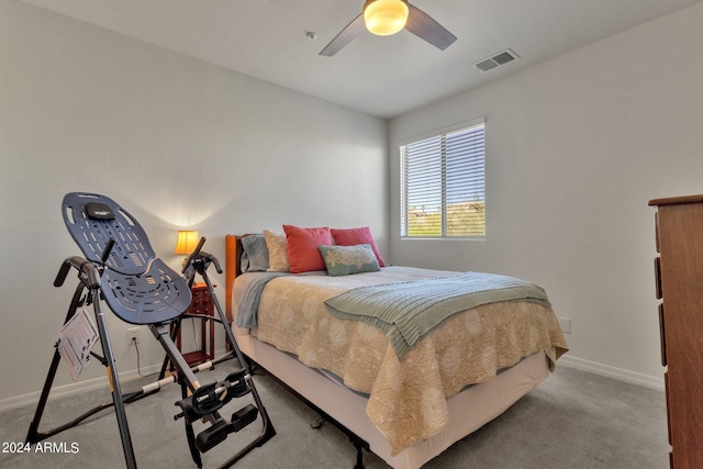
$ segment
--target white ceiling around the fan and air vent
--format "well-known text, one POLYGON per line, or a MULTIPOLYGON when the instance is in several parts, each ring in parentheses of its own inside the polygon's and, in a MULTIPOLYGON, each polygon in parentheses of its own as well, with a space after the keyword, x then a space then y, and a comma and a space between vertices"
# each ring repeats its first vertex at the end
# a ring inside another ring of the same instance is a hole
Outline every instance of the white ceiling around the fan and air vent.
POLYGON ((365 32, 334 57, 317 53, 360 13, 364 0, 22 1, 393 118, 701 0, 414 0, 458 37, 446 51, 408 31, 365 32), (472 66, 506 47, 521 59, 488 72, 472 66))

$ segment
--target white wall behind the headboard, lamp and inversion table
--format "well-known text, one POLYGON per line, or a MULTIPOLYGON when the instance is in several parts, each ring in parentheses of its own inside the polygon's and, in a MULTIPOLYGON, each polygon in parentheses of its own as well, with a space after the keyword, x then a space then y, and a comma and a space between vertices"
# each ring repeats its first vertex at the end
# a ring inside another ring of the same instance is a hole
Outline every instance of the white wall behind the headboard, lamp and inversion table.
MULTIPOLYGON (((118 201, 174 267, 181 226, 222 261, 225 233, 281 223, 368 224, 386 250, 387 138, 386 121, 0 0, 0 405, 41 389, 75 288, 72 275, 53 287, 80 254, 65 193, 118 201)), ((108 317, 118 367, 134 375, 127 325, 108 317)), ((142 366, 159 364, 143 337, 142 366)), ((81 382, 98 377, 93 364, 81 382)))

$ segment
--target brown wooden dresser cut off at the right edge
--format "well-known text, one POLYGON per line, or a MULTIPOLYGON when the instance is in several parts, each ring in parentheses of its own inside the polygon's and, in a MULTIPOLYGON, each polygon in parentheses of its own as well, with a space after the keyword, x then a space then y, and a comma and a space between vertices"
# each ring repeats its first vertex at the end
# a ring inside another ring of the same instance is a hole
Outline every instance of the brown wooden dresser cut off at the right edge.
POLYGON ((671 468, 703 468, 703 196, 656 199, 657 298, 671 468))

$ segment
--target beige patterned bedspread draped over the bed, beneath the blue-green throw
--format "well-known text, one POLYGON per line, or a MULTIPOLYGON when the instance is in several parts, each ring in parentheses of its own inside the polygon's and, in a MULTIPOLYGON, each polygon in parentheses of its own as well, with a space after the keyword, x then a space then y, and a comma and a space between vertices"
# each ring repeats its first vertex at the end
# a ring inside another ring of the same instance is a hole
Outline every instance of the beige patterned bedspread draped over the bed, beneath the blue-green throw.
MULTIPOLYGON (((555 313, 532 302, 494 303, 456 314, 403 360, 379 330, 336 319, 323 304, 352 288, 456 273, 388 267, 346 277, 276 278, 261 293, 258 328, 250 333, 369 394, 366 412, 395 455, 442 432, 449 423, 446 399, 466 386, 487 381, 539 350, 554 369, 567 351, 555 313)), ((236 304, 236 286, 234 295, 236 304)))

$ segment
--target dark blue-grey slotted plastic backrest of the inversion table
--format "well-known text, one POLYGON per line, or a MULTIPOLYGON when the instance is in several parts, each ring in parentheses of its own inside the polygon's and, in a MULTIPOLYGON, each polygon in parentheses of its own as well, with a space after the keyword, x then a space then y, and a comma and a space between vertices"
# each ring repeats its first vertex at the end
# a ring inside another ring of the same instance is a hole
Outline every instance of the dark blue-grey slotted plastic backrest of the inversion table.
POLYGON ((103 265, 100 290, 121 320, 155 324, 182 314, 191 300, 190 288, 174 269, 156 257, 146 233, 130 213, 108 197, 71 192, 64 197, 66 227, 86 259, 103 265))

